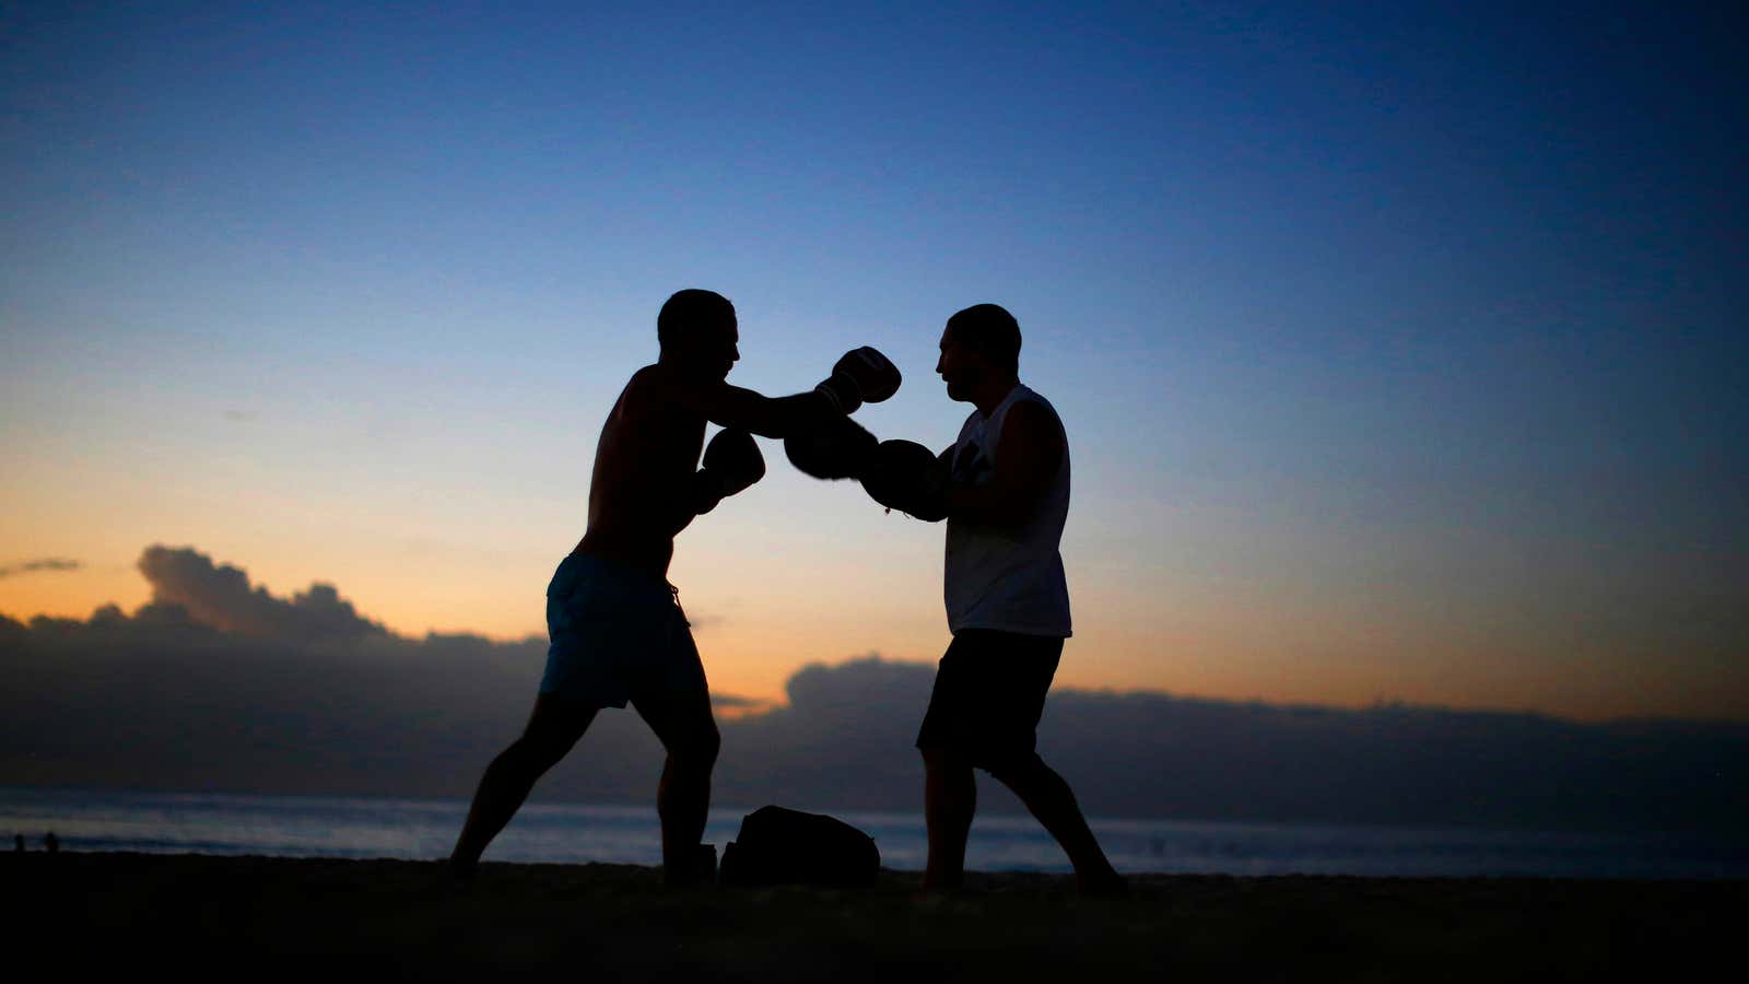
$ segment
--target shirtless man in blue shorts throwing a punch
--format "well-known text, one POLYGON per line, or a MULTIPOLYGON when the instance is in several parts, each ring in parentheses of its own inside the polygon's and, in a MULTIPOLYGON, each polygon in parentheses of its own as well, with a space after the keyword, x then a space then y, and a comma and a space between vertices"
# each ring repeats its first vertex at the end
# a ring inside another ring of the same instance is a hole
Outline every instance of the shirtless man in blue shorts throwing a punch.
POLYGON ((899 371, 866 347, 840 359, 812 392, 766 397, 729 385, 740 359, 735 306, 710 291, 668 298, 656 338, 659 357, 631 375, 602 427, 588 531, 547 585, 546 676, 523 735, 479 781, 449 856, 458 877, 474 874, 486 844, 596 711, 628 702, 668 753, 656 791, 663 877, 679 886, 714 875, 700 837, 719 735, 680 594, 668 583, 673 538, 764 476, 750 434, 827 427, 899 389, 899 371), (724 427, 708 446, 707 420, 724 427))

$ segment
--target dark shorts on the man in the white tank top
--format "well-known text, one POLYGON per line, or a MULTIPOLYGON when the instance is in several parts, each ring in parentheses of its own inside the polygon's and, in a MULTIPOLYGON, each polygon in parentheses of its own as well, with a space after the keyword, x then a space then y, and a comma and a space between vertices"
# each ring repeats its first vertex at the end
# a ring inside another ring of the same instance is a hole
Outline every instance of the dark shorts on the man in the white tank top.
POLYGON ((979 769, 1032 755, 1062 655, 1055 636, 960 630, 936 671, 916 748, 955 749, 979 769))

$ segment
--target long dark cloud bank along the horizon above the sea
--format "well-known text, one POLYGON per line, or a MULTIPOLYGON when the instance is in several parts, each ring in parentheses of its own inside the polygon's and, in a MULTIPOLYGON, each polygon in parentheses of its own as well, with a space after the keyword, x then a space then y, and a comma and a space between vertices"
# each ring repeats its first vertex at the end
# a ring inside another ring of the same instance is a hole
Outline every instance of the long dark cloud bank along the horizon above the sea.
MULTIPOLYGON (((332 588, 273 597, 192 550, 140 569, 154 601, 133 615, 0 618, 0 784, 467 797, 540 679, 542 639, 397 636, 332 588)), ((717 695, 745 713, 721 721, 714 800, 920 809, 932 679, 869 653, 798 669, 784 706, 717 695)), ((1746 725, 1053 690, 1039 748, 1093 816, 1749 828, 1746 725)), ((647 802, 659 762, 637 714, 603 713, 539 795, 647 802)))

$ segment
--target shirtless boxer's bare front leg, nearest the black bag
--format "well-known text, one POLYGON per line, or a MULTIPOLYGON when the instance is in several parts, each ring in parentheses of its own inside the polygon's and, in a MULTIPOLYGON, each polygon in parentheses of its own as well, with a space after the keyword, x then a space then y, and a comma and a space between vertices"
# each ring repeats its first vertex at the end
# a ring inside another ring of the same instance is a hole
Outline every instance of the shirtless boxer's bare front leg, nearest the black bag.
POLYGON ((710 816, 710 772, 722 737, 710 714, 710 692, 633 700, 638 714, 668 749, 656 786, 661 818, 661 863, 668 884, 694 884, 705 877, 698 844, 710 816))

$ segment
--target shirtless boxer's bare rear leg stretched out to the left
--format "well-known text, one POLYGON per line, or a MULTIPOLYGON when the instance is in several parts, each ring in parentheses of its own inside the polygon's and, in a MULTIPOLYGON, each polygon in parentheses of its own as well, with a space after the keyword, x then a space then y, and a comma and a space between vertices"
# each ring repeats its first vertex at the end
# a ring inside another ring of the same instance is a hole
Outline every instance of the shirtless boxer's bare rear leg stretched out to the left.
POLYGON ((486 844, 516 816, 535 781, 577 744, 595 720, 595 711, 546 693, 535 697, 523 737, 498 753, 479 779, 467 823, 449 853, 451 872, 460 877, 474 874, 486 844))

